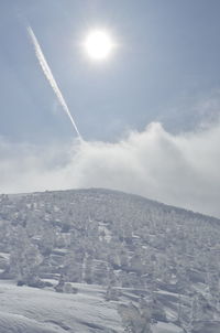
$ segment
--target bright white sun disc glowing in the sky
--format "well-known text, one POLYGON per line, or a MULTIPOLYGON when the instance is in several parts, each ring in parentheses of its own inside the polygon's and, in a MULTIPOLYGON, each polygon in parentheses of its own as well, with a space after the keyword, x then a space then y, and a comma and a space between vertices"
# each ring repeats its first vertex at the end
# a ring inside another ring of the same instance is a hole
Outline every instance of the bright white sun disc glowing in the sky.
POLYGON ((97 29, 88 33, 84 46, 91 60, 103 61, 111 55, 114 43, 107 31, 97 29))

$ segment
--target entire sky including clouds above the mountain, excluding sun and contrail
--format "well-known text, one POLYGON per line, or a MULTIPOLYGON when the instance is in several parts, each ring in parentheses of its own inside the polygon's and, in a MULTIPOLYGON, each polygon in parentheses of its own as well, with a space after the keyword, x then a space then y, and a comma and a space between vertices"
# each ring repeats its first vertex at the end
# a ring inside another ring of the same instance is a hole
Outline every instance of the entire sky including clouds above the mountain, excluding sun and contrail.
POLYGON ((220 217, 219 13, 219 0, 0 1, 0 193, 98 186, 220 217), (105 63, 80 46, 94 28, 118 45, 105 63))

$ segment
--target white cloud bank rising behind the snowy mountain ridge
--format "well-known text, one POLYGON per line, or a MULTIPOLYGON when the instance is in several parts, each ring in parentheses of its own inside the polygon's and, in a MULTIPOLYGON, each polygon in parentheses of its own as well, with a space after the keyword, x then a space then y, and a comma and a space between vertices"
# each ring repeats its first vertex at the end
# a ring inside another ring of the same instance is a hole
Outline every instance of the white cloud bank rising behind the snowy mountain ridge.
POLYGON ((37 151, 0 143, 0 192, 108 187, 220 217, 220 126, 173 136, 160 123, 117 143, 37 151))

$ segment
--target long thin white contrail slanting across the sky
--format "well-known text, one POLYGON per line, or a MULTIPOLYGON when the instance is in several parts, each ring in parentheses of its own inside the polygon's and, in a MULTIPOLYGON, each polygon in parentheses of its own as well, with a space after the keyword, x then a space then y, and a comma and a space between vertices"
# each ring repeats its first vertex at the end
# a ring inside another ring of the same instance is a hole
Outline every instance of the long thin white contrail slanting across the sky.
POLYGON ((54 93, 55 93, 58 101, 61 103, 63 109, 66 111, 67 116, 69 117, 69 119, 70 119, 70 121, 72 121, 72 123, 73 123, 73 126, 74 126, 74 128, 75 128, 75 130, 76 130, 79 139, 81 139, 81 136, 80 136, 80 133, 78 131, 76 122, 74 121, 74 119, 72 117, 69 108, 68 108, 68 106, 67 106, 67 104, 66 104, 66 101, 65 101, 65 99, 64 99, 64 97, 62 95, 62 92, 61 92, 61 89, 59 89, 59 87, 58 87, 58 85, 57 85, 57 83, 56 83, 56 80, 55 80, 55 78, 54 78, 54 76, 52 74, 52 71, 51 71, 51 68, 48 66, 48 63, 47 63, 47 61, 46 61, 46 58, 45 58, 45 56, 43 54, 43 51, 42 51, 42 49, 41 49, 41 46, 38 44, 38 41, 37 41, 35 34, 34 34, 33 30, 31 29, 31 26, 28 26, 28 32, 29 32, 29 34, 31 36, 32 42, 33 42, 35 54, 36 54, 36 57, 38 60, 38 63, 40 63, 43 72, 44 72, 44 75, 46 76, 50 85, 52 86, 52 88, 53 88, 53 90, 54 90, 54 93))

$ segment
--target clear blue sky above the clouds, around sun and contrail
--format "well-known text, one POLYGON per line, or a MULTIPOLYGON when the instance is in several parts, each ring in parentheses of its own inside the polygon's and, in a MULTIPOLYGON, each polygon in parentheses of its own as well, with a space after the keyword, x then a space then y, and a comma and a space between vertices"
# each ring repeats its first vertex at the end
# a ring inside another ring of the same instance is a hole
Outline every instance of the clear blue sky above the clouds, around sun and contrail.
POLYGON ((28 142, 73 136, 28 24, 86 140, 114 141, 155 120, 174 132, 193 129, 200 120, 195 106, 220 86, 219 12, 218 0, 1 1, 0 135, 28 142), (78 46, 94 26, 109 29, 120 43, 102 65, 78 46))

